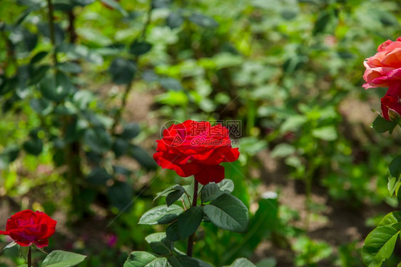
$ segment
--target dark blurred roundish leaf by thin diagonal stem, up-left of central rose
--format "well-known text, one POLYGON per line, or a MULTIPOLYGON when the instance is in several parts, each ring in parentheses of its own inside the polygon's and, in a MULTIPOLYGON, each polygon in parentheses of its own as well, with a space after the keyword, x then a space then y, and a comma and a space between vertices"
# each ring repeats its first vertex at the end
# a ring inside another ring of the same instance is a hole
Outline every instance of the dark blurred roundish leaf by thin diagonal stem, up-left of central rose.
POLYGON ((129 84, 133 80, 136 66, 128 59, 116 58, 111 61, 108 72, 116 84, 129 84))

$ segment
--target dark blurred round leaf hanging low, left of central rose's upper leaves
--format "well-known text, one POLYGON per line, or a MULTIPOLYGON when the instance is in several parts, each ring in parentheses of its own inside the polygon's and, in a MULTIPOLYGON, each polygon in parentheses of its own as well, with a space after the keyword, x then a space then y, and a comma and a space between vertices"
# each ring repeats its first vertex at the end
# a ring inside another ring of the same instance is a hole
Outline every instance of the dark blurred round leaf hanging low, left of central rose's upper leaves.
POLYGON ((113 206, 123 211, 131 204, 133 191, 128 183, 117 181, 108 188, 107 196, 113 206))

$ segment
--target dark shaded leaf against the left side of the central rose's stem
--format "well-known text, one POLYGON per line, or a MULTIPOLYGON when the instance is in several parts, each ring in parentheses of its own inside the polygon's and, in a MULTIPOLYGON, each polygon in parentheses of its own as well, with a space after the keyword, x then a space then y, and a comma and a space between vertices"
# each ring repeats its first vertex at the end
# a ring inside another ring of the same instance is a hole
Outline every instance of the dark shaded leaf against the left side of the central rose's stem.
POLYGON ((186 239, 196 232, 203 219, 203 207, 194 206, 184 211, 178 216, 178 236, 186 239))

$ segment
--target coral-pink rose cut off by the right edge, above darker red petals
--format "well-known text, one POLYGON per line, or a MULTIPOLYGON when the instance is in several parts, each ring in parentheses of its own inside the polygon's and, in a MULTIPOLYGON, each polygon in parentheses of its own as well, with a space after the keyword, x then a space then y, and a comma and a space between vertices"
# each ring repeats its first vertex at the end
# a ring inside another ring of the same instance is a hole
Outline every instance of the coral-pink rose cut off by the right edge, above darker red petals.
POLYGON ((388 94, 395 96, 401 85, 401 37, 387 40, 377 48, 377 53, 363 62, 366 84, 363 88, 390 87, 388 94))

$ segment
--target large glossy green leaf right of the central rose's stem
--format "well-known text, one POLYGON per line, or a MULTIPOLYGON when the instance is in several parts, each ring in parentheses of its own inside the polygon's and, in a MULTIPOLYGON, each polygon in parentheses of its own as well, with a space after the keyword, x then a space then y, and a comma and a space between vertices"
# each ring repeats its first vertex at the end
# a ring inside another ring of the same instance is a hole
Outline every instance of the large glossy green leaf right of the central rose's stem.
POLYGON ((238 233, 248 229, 248 208, 235 196, 224 193, 204 206, 203 210, 215 226, 238 233))

